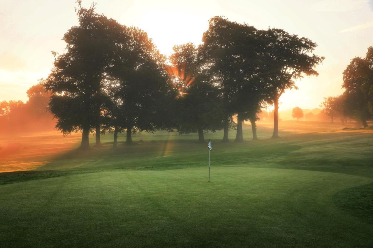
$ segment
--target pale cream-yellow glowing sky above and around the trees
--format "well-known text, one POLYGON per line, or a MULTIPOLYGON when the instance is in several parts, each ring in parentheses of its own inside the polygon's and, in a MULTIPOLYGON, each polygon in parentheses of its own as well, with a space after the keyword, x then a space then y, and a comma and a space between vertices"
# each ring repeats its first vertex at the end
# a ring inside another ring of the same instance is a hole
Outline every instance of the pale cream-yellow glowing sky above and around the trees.
MULTIPOLYGON (((83 0, 89 7, 91 1, 83 0)), ((201 43, 208 20, 224 16, 258 29, 285 29, 317 43, 325 56, 319 76, 297 81, 298 90, 280 98, 280 109, 319 107, 343 92, 342 72, 373 45, 373 0, 97 0, 96 11, 148 33, 161 53, 173 45, 201 43)), ((76 0, 0 0, 0 101, 27 101, 26 90, 47 77, 51 51, 63 53, 63 34, 77 24, 76 0)))

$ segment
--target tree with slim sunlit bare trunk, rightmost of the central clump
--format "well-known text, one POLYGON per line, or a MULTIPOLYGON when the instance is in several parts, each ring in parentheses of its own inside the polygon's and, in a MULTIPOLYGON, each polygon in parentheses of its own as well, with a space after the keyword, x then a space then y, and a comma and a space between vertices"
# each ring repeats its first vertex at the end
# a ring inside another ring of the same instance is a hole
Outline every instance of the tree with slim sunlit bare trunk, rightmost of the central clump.
POLYGON ((324 57, 313 54, 316 43, 291 35, 283 29, 261 31, 261 39, 266 41, 263 66, 271 92, 268 102, 275 105, 272 138, 277 138, 279 98, 286 89, 298 89, 295 80, 304 74, 317 76, 315 67, 322 63, 324 57))

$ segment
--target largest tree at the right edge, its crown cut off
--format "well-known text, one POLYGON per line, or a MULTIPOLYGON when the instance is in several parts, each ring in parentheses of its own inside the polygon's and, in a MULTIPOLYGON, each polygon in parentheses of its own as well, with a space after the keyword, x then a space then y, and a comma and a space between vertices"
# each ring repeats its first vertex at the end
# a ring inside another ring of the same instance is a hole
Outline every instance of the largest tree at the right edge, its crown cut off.
POLYGON ((367 119, 371 115, 369 104, 373 73, 369 56, 373 53, 372 50, 373 48, 370 47, 366 58, 353 58, 343 72, 342 87, 346 89, 344 93, 346 113, 360 119, 364 127, 368 126, 367 119))

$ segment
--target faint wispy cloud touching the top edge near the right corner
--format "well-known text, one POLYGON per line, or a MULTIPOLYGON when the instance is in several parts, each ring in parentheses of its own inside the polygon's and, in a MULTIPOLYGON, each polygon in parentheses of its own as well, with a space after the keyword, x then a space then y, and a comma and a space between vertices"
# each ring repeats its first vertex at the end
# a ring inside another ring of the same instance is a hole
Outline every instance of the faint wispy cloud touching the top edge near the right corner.
MULTIPOLYGON (((313 9, 317 11, 345 12, 366 7, 367 0, 326 0, 318 1, 313 9)), ((369 0, 369 5, 373 7, 373 0, 369 0)))

